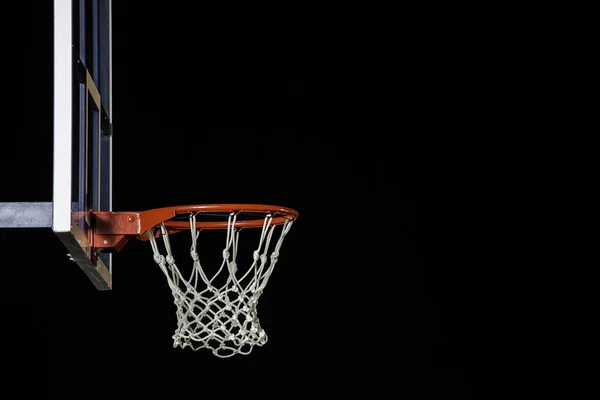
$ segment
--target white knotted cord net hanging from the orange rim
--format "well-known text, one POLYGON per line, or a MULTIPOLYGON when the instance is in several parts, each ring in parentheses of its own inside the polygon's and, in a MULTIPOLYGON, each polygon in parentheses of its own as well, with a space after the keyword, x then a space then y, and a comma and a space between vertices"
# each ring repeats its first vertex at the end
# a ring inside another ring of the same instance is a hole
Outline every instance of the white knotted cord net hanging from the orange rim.
POLYGON ((175 264, 165 225, 157 228, 161 229, 166 255, 160 253, 153 230, 148 231, 154 261, 167 277, 177 307, 173 347, 206 348, 218 357, 231 357, 249 354, 255 345, 262 346, 267 342, 256 307, 293 221, 290 219, 283 225, 275 225, 272 224, 273 216, 267 214, 253 253, 253 262, 243 268, 236 263, 240 235, 240 230, 235 228, 236 218, 235 213, 228 217, 223 260, 217 272, 210 277, 202 268, 196 252, 200 234, 200 230, 196 229, 196 214, 190 214, 193 267, 188 279, 182 276, 175 264), (281 229, 273 244, 277 227, 281 229))

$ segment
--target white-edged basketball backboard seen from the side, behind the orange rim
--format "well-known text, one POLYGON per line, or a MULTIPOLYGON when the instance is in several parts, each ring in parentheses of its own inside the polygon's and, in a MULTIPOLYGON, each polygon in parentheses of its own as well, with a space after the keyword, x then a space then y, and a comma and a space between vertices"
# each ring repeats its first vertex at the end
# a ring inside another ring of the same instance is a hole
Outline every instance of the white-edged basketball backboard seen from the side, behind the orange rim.
POLYGON ((112 256, 92 249, 90 211, 112 211, 111 0, 54 0, 52 230, 96 288, 112 256))

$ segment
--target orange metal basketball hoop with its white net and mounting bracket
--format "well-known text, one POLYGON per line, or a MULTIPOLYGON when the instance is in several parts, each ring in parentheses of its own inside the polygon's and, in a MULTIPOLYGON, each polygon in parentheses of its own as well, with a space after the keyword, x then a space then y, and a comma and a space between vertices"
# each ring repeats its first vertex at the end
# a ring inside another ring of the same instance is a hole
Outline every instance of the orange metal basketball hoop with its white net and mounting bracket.
POLYGON ((249 354, 267 342, 257 304, 285 236, 298 218, 289 208, 259 204, 205 204, 167 207, 141 213, 94 213, 94 242, 120 249, 131 237, 150 242, 154 261, 167 279, 176 306, 173 347, 210 349, 218 357, 249 354), (123 230, 131 233, 119 233, 123 230), (260 229, 252 260, 238 265, 240 233, 260 229), (192 272, 177 267, 170 235, 189 230, 192 272), (225 231, 217 271, 207 273, 198 255, 202 230, 225 231), (110 241, 109 241, 110 239, 110 241))

